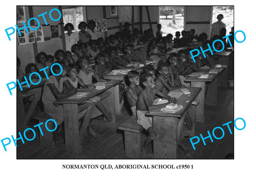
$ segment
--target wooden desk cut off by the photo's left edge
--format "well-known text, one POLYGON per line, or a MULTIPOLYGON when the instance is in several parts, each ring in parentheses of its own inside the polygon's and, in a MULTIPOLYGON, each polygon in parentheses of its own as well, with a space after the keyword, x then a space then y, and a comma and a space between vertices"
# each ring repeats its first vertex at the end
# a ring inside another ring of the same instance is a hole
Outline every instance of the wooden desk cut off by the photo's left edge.
POLYGON ((32 116, 38 101, 41 99, 43 85, 46 79, 42 79, 38 85, 30 85, 30 87, 17 87, 17 130, 23 131, 27 128, 28 121, 32 116), (23 98, 34 96, 27 111, 23 104, 23 98))

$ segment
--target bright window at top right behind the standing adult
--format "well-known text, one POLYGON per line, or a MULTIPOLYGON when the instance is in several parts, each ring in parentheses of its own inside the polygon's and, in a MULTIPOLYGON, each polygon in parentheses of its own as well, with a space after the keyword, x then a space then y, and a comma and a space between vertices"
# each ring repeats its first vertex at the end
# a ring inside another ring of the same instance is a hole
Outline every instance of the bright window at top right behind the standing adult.
POLYGON ((234 6, 213 6, 212 23, 217 21, 218 14, 223 14, 223 23, 226 24, 227 35, 234 27, 234 6))

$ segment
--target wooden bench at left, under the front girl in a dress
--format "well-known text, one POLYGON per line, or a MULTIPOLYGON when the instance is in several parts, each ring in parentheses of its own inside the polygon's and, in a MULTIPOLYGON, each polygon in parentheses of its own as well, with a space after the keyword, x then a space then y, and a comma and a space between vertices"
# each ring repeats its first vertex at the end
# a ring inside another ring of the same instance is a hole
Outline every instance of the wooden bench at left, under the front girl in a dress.
MULTIPOLYGON (((36 114, 34 117, 34 119, 36 120, 39 120, 39 124, 41 122, 43 122, 43 125, 41 125, 41 129, 42 129, 42 132, 43 132, 43 136, 41 133, 39 133, 39 141, 40 141, 40 145, 41 146, 45 146, 45 147, 54 147, 55 146, 55 143, 53 141, 53 132, 50 132, 48 130, 46 130, 45 128, 45 122, 48 120, 48 119, 52 119, 51 116, 49 116, 48 114, 46 114, 46 112, 40 112, 38 114, 36 114)), ((53 129, 53 123, 52 121, 50 122, 47 122, 47 127, 49 129, 53 129)))

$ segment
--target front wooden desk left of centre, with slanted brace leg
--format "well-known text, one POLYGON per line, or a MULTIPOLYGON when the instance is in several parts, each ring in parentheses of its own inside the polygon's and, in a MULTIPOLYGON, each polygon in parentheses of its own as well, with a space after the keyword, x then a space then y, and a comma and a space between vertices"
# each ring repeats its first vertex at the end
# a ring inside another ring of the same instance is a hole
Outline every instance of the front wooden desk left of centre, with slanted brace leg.
MULTIPOLYGON (((68 97, 61 98, 54 102, 54 104, 62 104, 64 111, 64 124, 65 124, 65 142, 66 150, 79 154, 82 151, 81 143, 84 135, 86 134, 86 128, 92 116, 92 111, 97 107, 103 116, 113 122, 116 121, 115 114, 115 86, 118 86, 120 81, 110 80, 106 84, 105 89, 86 91, 90 94, 82 98, 69 99, 68 97), (89 98, 93 96, 99 96, 100 101, 96 103, 87 102, 89 98), (107 104, 108 106, 106 106, 107 104), (78 120, 83 118, 82 125, 79 129, 78 120)), ((70 96, 69 96, 70 97, 70 96)), ((119 92, 118 92, 119 100, 119 92)), ((118 102, 119 103, 119 102, 118 102)))

